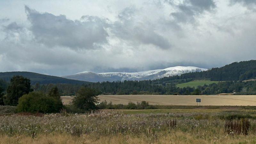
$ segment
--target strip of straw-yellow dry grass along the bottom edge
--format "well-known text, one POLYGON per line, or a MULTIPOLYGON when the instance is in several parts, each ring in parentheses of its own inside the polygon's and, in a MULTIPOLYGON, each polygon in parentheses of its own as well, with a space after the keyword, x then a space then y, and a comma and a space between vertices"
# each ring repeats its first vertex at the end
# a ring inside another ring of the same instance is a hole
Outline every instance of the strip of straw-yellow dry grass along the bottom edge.
POLYGON ((96 136, 91 134, 83 134, 80 137, 71 134, 40 134, 36 138, 27 135, 18 136, 0 136, 0 144, 254 144, 256 138, 253 135, 230 136, 224 133, 222 136, 211 138, 197 138, 191 133, 172 132, 169 134, 159 133, 157 139, 152 139, 147 135, 111 135, 96 136))

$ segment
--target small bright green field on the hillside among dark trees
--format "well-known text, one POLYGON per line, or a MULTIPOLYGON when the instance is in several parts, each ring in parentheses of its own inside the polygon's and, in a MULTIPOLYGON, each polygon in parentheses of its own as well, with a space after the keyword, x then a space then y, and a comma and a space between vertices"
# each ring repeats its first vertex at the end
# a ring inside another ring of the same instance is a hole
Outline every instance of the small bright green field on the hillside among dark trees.
POLYGON ((183 88, 183 87, 197 87, 197 86, 203 86, 204 84, 212 84, 212 83, 219 83, 218 81, 209 81, 209 80, 196 80, 196 81, 191 81, 188 83, 182 83, 182 84, 177 84, 176 86, 179 88, 183 88))

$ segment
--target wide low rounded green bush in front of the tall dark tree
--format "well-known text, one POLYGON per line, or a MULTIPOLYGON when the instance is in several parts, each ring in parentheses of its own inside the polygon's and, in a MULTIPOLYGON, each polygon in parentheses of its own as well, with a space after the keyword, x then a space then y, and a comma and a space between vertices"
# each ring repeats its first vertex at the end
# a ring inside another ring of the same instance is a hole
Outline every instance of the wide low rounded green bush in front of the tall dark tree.
POLYGON ((18 112, 56 113, 63 107, 62 102, 41 92, 31 92, 19 99, 18 112))

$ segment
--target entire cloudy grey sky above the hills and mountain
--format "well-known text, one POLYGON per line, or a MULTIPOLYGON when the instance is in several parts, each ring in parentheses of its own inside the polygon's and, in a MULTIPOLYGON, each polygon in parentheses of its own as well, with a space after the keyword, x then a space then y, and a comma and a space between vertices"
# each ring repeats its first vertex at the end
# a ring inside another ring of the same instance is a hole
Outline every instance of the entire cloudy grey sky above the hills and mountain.
POLYGON ((0 71, 54 76, 256 59, 255 0, 1 0, 0 71))

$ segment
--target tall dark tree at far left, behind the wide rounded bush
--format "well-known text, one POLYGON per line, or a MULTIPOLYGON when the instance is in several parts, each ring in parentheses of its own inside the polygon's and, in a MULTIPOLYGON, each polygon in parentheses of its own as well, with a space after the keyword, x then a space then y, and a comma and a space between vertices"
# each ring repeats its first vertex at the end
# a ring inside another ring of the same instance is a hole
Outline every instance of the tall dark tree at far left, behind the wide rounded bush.
POLYGON ((30 80, 23 76, 13 76, 6 90, 5 105, 16 106, 19 98, 30 92, 30 80))

